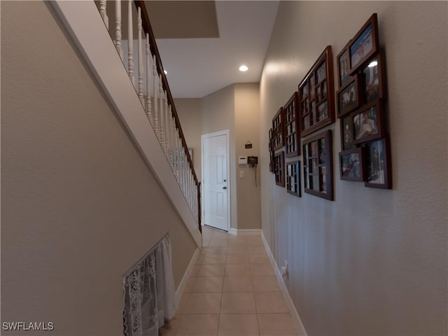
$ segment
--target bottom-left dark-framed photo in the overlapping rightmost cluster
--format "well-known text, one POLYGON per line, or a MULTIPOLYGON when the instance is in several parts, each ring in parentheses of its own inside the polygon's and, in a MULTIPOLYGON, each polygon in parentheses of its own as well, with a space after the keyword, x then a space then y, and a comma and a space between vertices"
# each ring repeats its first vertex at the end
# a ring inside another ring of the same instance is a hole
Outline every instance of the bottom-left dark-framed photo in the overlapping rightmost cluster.
POLYGON ((341 180, 364 181, 365 179, 364 148, 353 148, 339 153, 341 180))

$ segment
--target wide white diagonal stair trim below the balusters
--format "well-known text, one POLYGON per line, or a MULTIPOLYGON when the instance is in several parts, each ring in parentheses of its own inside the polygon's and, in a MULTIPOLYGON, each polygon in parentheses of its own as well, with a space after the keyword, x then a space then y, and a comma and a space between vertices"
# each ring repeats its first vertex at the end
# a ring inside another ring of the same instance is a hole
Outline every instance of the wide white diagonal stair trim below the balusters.
POLYGON ((197 246, 202 235, 94 1, 51 1, 99 87, 197 246))

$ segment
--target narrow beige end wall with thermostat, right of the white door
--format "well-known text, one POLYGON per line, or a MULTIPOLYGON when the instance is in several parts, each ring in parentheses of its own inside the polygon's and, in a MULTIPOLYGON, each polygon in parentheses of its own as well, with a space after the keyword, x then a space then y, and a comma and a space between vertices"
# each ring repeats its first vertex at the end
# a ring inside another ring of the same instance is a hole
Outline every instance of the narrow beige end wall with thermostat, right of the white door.
MULTIPOLYGON (((235 84, 235 147, 236 156, 260 156, 260 88, 258 83, 235 84), (244 145, 247 141, 251 149, 244 145)), ((238 229, 260 229, 260 166, 249 168, 238 165, 237 169, 237 202, 238 229), (239 177, 244 172, 244 178, 239 177), (255 185, 255 176, 257 179, 255 185)))

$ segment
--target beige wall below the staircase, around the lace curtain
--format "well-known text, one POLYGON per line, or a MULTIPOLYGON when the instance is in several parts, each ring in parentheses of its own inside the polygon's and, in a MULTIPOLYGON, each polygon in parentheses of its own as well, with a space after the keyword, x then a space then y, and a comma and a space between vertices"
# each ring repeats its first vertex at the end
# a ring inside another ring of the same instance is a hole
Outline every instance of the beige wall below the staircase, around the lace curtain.
POLYGON ((196 246, 60 27, 1 1, 1 318, 119 335, 127 269, 169 232, 177 286, 196 246))

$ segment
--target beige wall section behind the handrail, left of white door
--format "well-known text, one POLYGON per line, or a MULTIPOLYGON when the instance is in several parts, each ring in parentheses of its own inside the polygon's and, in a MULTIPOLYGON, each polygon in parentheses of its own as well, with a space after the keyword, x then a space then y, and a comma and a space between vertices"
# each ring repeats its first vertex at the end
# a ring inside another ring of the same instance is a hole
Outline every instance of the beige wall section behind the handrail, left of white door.
POLYGON ((193 165, 197 179, 201 180, 201 99, 174 99, 174 105, 188 148, 193 148, 193 165))

